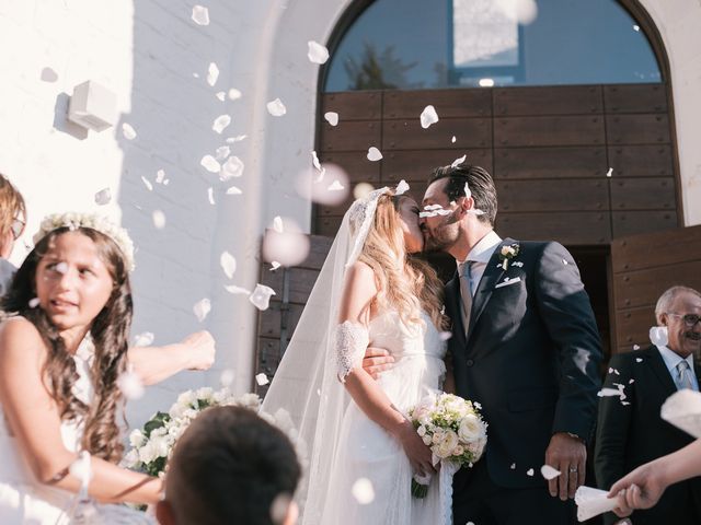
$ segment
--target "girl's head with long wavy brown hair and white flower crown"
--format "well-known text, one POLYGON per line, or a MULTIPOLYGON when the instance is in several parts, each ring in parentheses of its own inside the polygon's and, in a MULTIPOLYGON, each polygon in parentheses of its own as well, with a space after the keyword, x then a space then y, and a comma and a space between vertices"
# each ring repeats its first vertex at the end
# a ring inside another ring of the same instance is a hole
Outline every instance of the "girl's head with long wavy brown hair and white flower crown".
POLYGON ((83 447, 113 460, 123 451, 116 424, 122 401, 117 378, 126 369, 133 314, 130 244, 115 234, 126 235, 122 229, 93 215, 56 215, 47 221, 18 270, 2 310, 16 312, 36 326, 49 349, 44 374, 61 417, 84 417, 83 447), (64 340, 67 334, 87 331, 95 346, 91 406, 72 394, 76 364, 64 340))

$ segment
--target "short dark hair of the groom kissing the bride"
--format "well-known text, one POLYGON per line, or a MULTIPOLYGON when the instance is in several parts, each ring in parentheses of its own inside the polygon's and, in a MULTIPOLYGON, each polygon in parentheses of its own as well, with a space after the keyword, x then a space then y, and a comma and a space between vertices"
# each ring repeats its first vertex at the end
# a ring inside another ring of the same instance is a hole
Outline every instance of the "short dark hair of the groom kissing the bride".
POLYGON ((448 179, 444 190, 449 201, 466 196, 464 185, 467 183, 472 192, 475 208, 484 212, 483 215, 479 215, 479 219, 494 226, 497 208, 496 188, 492 175, 486 170, 472 164, 441 166, 434 170, 428 184, 443 178, 448 179))

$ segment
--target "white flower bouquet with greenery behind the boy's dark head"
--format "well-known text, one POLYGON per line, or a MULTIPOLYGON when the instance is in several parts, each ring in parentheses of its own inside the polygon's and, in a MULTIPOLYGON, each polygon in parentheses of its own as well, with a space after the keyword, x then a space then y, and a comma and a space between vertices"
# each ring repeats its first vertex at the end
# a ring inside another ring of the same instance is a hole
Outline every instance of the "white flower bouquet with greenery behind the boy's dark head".
POLYGON ((125 455, 123 465, 127 468, 162 475, 168 465, 177 439, 189 423, 208 407, 235 405, 253 410, 271 424, 279 428, 297 446, 297 433, 292 421, 285 410, 275 416, 261 411, 261 398, 255 394, 234 396, 228 388, 214 392, 209 387, 183 392, 168 412, 157 412, 143 430, 134 430, 129 434, 131 448, 125 455))

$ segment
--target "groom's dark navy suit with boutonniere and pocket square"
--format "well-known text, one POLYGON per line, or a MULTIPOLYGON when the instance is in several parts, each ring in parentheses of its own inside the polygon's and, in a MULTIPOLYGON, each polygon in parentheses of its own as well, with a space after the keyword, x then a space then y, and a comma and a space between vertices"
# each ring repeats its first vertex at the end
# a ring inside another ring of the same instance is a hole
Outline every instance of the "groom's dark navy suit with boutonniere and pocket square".
POLYGON ((485 456, 456 475, 455 523, 482 523, 475 509, 485 505, 499 525, 570 523, 572 503, 549 495, 540 467, 553 433, 590 439, 601 361, 572 256, 558 243, 506 238, 473 292, 468 334, 457 273, 446 284, 446 313, 457 394, 481 404, 489 424, 485 456), (504 270, 501 247, 514 244, 518 254, 504 270))

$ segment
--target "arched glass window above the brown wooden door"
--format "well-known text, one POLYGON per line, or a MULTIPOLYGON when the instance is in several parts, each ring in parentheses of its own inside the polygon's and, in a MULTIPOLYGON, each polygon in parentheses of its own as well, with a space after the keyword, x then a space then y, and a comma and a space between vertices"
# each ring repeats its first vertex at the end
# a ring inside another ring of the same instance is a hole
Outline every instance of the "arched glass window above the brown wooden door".
POLYGON ((660 81, 616 0, 376 0, 341 37, 324 92, 660 81))

